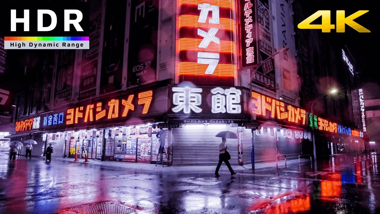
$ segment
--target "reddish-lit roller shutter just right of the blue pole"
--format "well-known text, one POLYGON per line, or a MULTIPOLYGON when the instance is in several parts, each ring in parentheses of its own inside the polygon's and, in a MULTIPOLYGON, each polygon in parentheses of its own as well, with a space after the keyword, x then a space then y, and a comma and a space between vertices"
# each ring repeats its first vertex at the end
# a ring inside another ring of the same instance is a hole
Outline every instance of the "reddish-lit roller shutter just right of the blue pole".
POLYGON ((255 163, 266 163, 276 161, 277 155, 277 137, 276 131, 274 135, 270 136, 268 134, 263 134, 261 132, 259 135, 256 131, 253 132, 253 145, 255 148, 255 163))

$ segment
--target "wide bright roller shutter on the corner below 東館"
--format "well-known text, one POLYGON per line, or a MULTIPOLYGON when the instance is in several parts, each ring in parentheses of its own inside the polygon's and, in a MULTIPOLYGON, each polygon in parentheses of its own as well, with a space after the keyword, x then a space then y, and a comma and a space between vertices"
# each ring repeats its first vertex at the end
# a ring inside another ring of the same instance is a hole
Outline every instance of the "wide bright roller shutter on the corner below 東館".
MULTIPOLYGON (((237 134, 237 127, 231 128, 226 125, 186 125, 182 128, 173 128, 173 165, 216 165, 222 139, 215 135, 227 130, 237 134)), ((237 165, 237 139, 227 139, 226 146, 231 155, 230 163, 237 165)))

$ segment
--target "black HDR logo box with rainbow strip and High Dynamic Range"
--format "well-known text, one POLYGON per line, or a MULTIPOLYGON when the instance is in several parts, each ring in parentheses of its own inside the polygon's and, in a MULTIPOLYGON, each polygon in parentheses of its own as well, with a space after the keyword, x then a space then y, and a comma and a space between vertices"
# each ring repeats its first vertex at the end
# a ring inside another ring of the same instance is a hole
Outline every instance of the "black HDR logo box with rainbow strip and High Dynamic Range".
POLYGON ((76 1, 2 5, 4 48, 89 49, 88 7, 76 1))

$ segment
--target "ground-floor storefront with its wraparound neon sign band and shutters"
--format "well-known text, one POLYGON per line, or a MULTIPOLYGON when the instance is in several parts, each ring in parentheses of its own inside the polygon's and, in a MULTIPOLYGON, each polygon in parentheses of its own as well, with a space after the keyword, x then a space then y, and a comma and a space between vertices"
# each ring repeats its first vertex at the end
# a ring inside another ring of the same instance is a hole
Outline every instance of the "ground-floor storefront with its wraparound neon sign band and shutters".
POLYGON ((13 137, 35 139, 37 155, 51 143, 54 157, 155 164, 160 145, 156 134, 163 129, 168 133, 164 161, 175 166, 216 164, 221 139, 215 135, 220 131, 237 135, 226 142, 231 164, 312 155, 313 130, 317 148, 328 155, 342 152, 342 143, 350 145, 345 150, 363 149, 358 130, 257 92, 249 94, 243 87, 157 83, 24 118, 16 122, 13 137), (320 136, 327 136, 326 142, 320 136), (358 141, 355 149, 344 137, 358 141))

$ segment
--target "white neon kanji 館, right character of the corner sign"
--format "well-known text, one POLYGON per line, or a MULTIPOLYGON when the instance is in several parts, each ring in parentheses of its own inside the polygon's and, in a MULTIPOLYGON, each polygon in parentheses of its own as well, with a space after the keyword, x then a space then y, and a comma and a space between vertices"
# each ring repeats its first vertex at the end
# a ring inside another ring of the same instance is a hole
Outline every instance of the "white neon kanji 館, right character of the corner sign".
POLYGON ((222 89, 220 87, 211 90, 212 113, 241 113, 240 95, 241 91, 236 88, 222 89), (223 95, 225 96, 223 96, 223 95))

